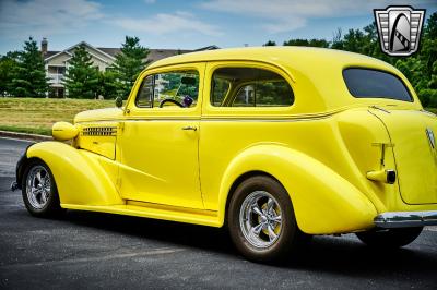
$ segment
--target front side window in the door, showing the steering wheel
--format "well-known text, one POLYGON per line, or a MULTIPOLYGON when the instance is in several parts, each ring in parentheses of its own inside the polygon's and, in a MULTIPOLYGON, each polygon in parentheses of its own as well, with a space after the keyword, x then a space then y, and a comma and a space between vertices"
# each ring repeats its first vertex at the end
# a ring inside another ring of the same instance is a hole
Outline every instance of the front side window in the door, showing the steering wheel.
POLYGON ((196 107, 199 95, 199 73, 176 71, 157 73, 144 78, 138 92, 138 107, 196 107))

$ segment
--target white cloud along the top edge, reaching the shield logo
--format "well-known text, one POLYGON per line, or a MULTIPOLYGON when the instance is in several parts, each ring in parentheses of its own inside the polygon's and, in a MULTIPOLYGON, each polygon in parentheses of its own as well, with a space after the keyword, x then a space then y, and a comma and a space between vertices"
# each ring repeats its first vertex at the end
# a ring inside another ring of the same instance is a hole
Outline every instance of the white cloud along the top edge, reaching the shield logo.
MULTIPOLYGON (((416 0, 414 7, 429 4, 435 0, 416 0)), ((373 15, 376 8, 399 4, 392 0, 209 0, 201 8, 241 15, 258 17, 264 21, 260 25, 269 33, 291 32, 306 26, 310 17, 342 17, 373 15)))

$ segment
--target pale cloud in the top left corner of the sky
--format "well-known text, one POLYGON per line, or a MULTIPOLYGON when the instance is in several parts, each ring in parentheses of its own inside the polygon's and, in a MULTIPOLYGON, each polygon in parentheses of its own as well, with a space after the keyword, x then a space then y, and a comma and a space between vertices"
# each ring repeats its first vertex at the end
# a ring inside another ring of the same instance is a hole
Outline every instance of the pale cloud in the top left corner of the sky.
POLYGON ((0 35, 23 38, 74 32, 104 15, 88 0, 1 0, 0 35))

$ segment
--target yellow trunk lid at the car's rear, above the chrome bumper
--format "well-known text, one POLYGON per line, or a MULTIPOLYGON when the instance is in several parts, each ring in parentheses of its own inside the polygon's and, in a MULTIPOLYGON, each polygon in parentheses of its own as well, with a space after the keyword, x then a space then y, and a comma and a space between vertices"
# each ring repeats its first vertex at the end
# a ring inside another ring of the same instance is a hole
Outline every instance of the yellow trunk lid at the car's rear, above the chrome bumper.
POLYGON ((406 204, 437 203, 437 117, 418 110, 374 108, 393 146, 398 184, 406 204))

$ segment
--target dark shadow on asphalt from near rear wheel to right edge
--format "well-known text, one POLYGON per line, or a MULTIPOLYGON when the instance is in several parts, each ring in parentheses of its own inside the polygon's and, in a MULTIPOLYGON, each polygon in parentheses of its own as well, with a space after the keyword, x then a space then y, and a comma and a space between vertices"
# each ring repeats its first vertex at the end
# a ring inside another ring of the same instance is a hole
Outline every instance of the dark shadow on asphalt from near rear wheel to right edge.
MULTIPOLYGON (((423 232, 417 241, 429 239, 423 232)), ((435 239, 435 238, 434 238, 435 239)), ((377 250, 364 245, 352 234, 347 238, 317 237, 304 253, 286 265, 293 268, 317 269, 338 274, 368 276, 369 279, 387 276, 389 273, 435 277, 437 283, 437 254, 426 245, 416 244, 395 250, 377 250)))

